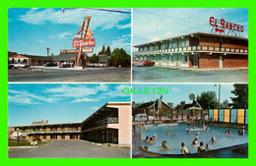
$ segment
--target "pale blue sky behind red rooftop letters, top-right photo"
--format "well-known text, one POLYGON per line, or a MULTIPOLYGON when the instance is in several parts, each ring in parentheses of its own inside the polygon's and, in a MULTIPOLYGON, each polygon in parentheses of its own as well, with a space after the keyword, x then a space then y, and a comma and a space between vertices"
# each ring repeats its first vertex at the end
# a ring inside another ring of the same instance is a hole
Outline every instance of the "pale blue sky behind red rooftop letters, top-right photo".
POLYGON ((211 32, 210 17, 242 25, 248 37, 247 8, 134 8, 133 45, 194 31, 211 32))

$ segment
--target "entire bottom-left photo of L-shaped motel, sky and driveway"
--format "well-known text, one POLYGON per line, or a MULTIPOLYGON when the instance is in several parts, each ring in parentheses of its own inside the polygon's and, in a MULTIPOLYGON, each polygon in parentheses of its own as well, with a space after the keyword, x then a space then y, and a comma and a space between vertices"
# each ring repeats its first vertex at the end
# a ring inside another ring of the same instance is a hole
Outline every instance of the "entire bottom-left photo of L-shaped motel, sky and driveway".
POLYGON ((130 83, 9 83, 9 158, 130 158, 130 83))

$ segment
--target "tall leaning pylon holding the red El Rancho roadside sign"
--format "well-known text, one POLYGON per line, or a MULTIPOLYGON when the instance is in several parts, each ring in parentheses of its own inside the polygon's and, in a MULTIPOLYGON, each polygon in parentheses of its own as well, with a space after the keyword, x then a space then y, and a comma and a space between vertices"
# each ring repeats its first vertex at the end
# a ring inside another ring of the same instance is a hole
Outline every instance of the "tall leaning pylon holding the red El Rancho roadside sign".
MULTIPOLYGON (((84 20, 84 23, 82 25, 82 35, 81 35, 81 39, 85 39, 86 38, 86 35, 87 35, 87 31, 88 31, 88 28, 89 28, 89 24, 90 24, 90 20, 91 20, 91 17, 90 16, 86 16, 85 17, 85 20, 84 20)), ((83 47, 80 46, 79 47, 79 52, 78 52, 78 58, 77 58, 77 62, 76 62, 76 67, 83 67, 83 63, 82 65, 79 64, 80 60, 83 59, 83 47)), ((83 61, 83 60, 82 60, 83 61)))

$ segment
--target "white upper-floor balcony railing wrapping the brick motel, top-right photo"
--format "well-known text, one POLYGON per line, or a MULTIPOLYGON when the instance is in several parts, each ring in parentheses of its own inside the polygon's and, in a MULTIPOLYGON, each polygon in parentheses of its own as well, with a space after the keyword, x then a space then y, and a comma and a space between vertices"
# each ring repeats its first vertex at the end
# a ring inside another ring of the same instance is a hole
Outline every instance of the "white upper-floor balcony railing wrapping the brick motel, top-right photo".
POLYGON ((238 49, 238 48, 220 48, 212 46, 187 46, 181 48, 168 48, 160 50, 150 50, 150 51, 139 51, 134 52, 134 54, 156 54, 156 53, 178 53, 178 52, 191 52, 191 51, 210 51, 210 52, 228 52, 228 53, 248 53, 248 49, 238 49))

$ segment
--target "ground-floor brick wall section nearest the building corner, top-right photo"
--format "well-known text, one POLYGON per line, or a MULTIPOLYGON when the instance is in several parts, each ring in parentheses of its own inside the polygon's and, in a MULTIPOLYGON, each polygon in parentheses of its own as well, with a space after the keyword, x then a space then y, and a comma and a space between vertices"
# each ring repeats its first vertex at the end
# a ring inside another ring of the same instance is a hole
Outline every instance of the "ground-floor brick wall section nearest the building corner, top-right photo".
POLYGON ((220 68, 220 56, 216 54, 206 55, 200 54, 199 56, 199 68, 220 68))

